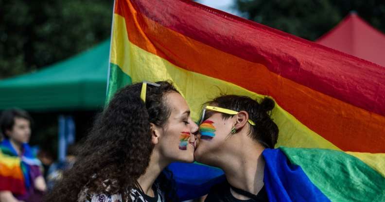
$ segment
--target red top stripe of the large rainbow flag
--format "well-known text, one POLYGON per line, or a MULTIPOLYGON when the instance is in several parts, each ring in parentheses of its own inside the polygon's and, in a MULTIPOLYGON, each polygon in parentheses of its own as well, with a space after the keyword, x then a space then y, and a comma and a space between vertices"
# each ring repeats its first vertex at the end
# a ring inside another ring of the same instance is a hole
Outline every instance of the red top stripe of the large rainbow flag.
MULTIPOLYGON (((129 0, 117 0, 117 8, 129 0)), ((321 93, 385 115, 385 68, 189 0, 131 0, 160 25, 321 93), (167 5, 167 6, 165 6, 167 5)), ((120 10, 117 14, 123 16, 120 10)))

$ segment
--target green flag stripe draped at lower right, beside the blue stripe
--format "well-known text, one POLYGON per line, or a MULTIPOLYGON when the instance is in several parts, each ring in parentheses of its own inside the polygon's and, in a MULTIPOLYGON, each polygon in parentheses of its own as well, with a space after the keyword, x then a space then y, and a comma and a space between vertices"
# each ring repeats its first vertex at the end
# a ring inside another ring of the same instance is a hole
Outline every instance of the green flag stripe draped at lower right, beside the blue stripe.
POLYGON ((385 178, 354 156, 326 149, 280 147, 280 150, 292 164, 300 166, 331 201, 380 202, 385 199, 385 178))

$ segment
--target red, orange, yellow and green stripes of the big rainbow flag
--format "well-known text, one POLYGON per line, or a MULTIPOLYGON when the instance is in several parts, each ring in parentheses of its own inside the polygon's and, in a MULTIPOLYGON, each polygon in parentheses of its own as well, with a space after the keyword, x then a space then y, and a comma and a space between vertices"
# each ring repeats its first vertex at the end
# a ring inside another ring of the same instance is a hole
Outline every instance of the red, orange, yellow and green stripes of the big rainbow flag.
POLYGON ((271 97, 276 151, 326 198, 385 197, 385 67, 190 0, 115 0, 107 100, 159 80, 174 82, 195 120, 221 92, 271 97))

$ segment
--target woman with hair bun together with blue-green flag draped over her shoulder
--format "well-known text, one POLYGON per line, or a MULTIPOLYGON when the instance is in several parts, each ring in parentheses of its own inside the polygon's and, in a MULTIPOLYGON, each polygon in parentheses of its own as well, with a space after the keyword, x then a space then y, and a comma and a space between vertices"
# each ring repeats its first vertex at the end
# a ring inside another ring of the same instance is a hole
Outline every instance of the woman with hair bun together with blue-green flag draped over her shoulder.
POLYGON ((221 168, 226 179, 211 187, 205 202, 384 201, 384 178, 354 156, 274 149, 279 129, 271 118, 272 99, 223 95, 206 104, 194 157, 221 168))

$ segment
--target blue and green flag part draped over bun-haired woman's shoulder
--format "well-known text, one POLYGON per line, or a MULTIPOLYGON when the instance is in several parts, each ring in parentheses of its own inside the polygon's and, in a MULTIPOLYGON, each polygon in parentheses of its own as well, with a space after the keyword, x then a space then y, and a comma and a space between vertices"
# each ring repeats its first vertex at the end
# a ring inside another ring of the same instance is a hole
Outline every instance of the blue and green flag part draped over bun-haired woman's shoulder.
POLYGON ((385 178, 346 152, 265 149, 263 182, 271 202, 382 202, 385 178))

